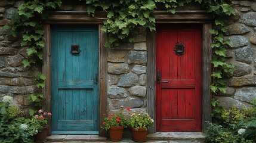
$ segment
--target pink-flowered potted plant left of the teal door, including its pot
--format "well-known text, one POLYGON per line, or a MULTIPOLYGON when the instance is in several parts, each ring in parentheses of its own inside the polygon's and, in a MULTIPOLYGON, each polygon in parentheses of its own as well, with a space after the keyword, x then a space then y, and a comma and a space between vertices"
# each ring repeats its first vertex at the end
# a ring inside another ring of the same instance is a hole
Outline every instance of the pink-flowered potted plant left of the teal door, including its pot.
POLYGON ((46 141, 48 117, 51 117, 51 113, 44 112, 42 109, 38 111, 38 114, 32 116, 33 128, 38 130, 38 133, 35 136, 36 142, 46 141))

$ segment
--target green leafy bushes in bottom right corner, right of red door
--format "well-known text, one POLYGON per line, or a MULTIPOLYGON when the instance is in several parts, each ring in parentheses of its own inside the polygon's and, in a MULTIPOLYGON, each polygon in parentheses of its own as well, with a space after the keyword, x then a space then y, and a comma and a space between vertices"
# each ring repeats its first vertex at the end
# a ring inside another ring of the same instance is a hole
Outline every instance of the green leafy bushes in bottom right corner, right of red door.
POLYGON ((234 106, 214 116, 215 123, 208 123, 206 142, 256 142, 256 99, 251 103, 252 107, 239 110, 234 106))

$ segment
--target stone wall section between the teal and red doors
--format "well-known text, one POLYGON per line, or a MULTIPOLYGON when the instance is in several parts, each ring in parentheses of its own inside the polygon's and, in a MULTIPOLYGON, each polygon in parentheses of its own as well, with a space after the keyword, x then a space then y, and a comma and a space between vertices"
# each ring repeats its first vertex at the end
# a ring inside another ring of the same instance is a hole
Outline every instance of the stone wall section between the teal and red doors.
POLYGON ((107 52, 108 106, 121 105, 146 111, 147 72, 146 30, 134 38, 134 43, 121 43, 107 52))

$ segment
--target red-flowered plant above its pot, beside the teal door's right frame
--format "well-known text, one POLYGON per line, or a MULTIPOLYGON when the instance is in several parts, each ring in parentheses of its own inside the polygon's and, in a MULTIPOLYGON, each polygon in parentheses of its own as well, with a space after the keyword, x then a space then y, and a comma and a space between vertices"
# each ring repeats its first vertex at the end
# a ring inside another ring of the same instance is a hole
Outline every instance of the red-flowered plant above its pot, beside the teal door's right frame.
MULTIPOLYGON (((107 110, 109 112, 110 110, 107 110)), ((124 108, 121 106, 118 113, 112 113, 109 116, 104 118, 104 129, 108 130, 110 127, 117 127, 117 126, 123 126, 124 128, 127 128, 128 126, 128 114, 125 113, 125 111, 130 111, 130 109, 124 108)))

